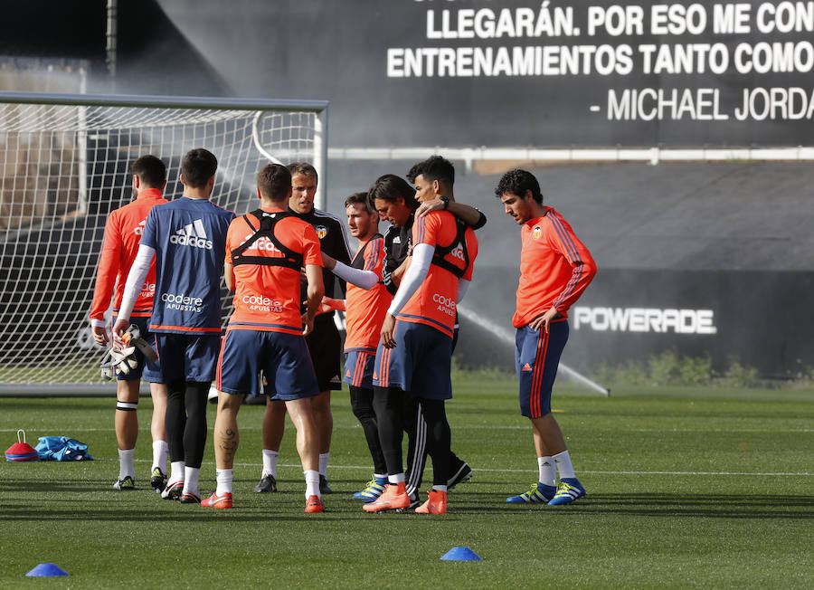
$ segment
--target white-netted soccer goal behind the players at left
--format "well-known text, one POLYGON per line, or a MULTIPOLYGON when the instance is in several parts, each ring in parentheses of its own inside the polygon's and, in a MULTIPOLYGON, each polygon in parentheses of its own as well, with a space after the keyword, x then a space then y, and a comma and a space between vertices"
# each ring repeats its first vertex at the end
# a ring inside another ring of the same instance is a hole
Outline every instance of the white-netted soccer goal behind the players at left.
POLYGON ((326 101, 0 92, 0 395, 115 391, 88 323, 105 222, 137 157, 165 161, 172 199, 194 147, 218 158, 212 199, 236 214, 270 161, 311 162, 325 208, 326 101))

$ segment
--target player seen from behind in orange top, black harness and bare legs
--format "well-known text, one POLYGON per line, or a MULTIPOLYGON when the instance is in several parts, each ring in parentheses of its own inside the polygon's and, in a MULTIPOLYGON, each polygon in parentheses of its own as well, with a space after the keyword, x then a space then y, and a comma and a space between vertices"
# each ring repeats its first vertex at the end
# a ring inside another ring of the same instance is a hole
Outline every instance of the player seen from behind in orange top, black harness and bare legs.
POLYGON ((235 219, 226 237, 226 286, 235 291, 234 313, 218 361, 215 420, 217 489, 201 505, 232 508, 232 465, 238 447, 237 414, 243 395, 259 395, 260 373, 272 400, 285 402, 297 427, 297 450, 306 480, 306 512, 322 512, 318 433, 311 398, 319 393, 304 336, 314 329, 322 301, 322 257, 317 231, 289 213, 291 174, 269 164, 257 179, 260 209, 235 219), (308 281, 301 316, 299 272, 308 281), (303 329, 305 323, 305 329, 303 329))

